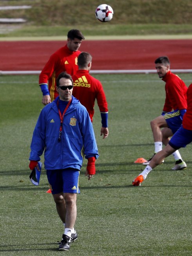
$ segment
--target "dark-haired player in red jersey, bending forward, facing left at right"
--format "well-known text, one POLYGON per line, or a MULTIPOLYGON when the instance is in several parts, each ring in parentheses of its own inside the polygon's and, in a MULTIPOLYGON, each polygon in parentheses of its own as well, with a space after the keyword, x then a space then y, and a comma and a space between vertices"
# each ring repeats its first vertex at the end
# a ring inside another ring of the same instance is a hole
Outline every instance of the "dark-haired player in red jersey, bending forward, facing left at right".
MULTIPOLYGON (((166 82, 166 98, 162 114, 150 122, 155 144, 154 154, 162 150, 162 143, 167 145, 169 137, 180 128, 187 109, 187 86, 183 80, 170 71, 168 57, 159 57, 155 60, 155 64, 159 78, 166 82)), ((173 153, 173 156, 176 164, 172 170, 181 170, 187 167, 178 150, 173 153)), ((149 165, 151 159, 143 165, 149 165)))

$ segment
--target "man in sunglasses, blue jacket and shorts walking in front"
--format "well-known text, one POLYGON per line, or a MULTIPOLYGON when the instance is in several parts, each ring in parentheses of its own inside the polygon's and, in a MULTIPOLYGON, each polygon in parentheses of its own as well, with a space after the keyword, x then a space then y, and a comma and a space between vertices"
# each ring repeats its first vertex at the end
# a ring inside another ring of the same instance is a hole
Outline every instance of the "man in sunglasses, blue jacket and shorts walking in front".
POLYGON ((44 151, 45 169, 56 209, 65 227, 59 250, 69 250, 77 240, 76 194, 83 157, 88 159, 85 176, 95 174, 99 157, 91 119, 86 108, 72 96, 71 75, 62 72, 56 80, 59 97, 40 113, 31 142, 31 170, 38 167, 44 151))

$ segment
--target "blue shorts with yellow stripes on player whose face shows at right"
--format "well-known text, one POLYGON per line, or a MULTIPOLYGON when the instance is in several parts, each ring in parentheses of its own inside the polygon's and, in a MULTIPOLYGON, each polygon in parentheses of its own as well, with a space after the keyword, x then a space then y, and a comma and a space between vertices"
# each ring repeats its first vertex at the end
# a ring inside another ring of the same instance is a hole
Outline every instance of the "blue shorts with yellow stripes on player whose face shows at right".
POLYGON ((181 127, 183 116, 180 113, 180 110, 175 110, 162 114, 167 122, 168 128, 172 130, 172 133, 176 133, 177 130, 181 127))

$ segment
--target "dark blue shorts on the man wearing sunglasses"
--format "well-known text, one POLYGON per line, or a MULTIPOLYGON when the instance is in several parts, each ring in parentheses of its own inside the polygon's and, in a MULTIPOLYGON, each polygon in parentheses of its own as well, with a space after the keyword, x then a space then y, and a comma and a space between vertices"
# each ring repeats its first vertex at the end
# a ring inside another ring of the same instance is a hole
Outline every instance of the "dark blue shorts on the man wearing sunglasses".
POLYGON ((74 168, 47 170, 51 193, 80 193, 79 174, 80 171, 74 168))

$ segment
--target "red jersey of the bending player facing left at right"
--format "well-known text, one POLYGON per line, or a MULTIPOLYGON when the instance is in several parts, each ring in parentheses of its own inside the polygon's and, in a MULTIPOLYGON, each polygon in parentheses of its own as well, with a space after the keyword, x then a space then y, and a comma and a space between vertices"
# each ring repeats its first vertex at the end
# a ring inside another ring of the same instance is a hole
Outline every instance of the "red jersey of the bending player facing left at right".
POLYGON ((165 84, 165 104, 163 111, 171 112, 174 110, 181 110, 187 108, 187 86, 181 80, 178 75, 168 71, 165 77, 162 79, 165 84))

